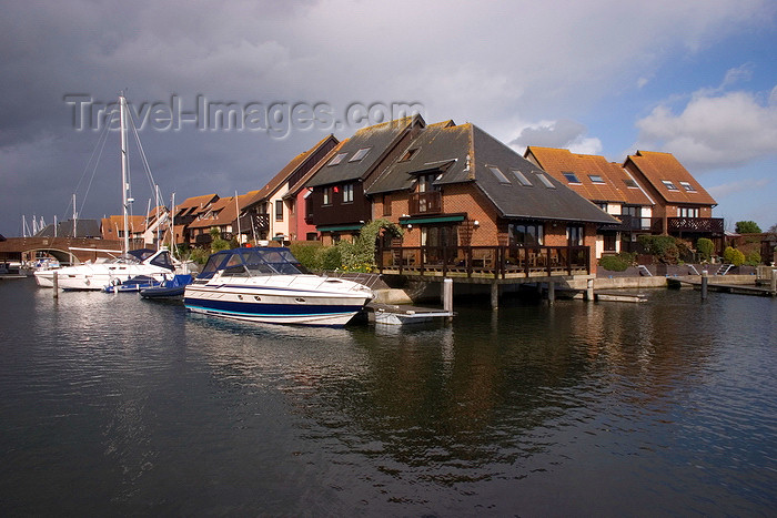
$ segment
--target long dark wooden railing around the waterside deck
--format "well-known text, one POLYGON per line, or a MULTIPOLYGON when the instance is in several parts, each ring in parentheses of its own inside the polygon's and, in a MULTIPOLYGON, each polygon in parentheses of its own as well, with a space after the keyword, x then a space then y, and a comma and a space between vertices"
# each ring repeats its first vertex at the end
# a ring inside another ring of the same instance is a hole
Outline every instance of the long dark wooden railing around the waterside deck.
POLYGON ((381 273, 466 277, 538 277, 591 273, 588 246, 380 247, 381 273))

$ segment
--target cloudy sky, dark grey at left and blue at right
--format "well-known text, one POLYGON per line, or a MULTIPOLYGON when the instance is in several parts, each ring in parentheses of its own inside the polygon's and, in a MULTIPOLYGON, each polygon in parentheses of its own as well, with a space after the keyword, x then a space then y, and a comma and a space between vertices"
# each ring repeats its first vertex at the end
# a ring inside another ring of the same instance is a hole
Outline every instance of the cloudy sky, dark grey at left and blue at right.
MULTIPOLYGON (((118 136, 88 167, 100 133, 73 129, 65 97, 105 103, 123 89, 135 108, 173 97, 186 110, 198 99, 325 105, 339 120, 354 103, 417 103, 427 122, 473 122, 516 151, 552 145, 616 162, 667 151, 718 201, 727 228, 777 224, 771 0, 1 3, 8 236, 21 234, 22 215, 69 217, 77 191, 81 217, 120 213, 118 136)), ((165 200, 260 189, 326 133, 359 125, 282 136, 180 126, 140 132, 165 200)), ((150 187, 142 171, 133 180, 142 213, 150 187)))

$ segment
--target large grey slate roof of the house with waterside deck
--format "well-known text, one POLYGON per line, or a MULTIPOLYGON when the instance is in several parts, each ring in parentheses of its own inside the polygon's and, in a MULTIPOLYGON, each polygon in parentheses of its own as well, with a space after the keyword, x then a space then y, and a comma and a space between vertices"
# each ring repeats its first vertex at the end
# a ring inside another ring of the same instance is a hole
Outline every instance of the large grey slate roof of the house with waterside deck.
POLYGON ((474 124, 432 124, 407 146, 417 151, 408 161, 392 164, 366 194, 411 190, 415 175, 435 171, 440 173, 436 185, 473 182, 503 217, 619 223, 474 124), (497 177, 491 167, 503 176, 497 177), (531 185, 523 185, 514 171, 531 185))

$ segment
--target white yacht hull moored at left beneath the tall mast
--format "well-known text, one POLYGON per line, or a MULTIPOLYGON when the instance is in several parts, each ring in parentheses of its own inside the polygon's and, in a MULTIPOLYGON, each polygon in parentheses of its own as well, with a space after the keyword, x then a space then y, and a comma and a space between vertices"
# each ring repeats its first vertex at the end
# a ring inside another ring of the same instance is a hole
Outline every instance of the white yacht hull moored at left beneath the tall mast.
POLYGON ((40 270, 34 273, 36 282, 41 287, 53 287, 53 276, 57 273, 57 284, 61 290, 94 290, 115 286, 140 275, 151 277, 161 283, 174 275, 175 266, 167 248, 133 250, 121 257, 100 263, 83 263, 59 270, 40 270))

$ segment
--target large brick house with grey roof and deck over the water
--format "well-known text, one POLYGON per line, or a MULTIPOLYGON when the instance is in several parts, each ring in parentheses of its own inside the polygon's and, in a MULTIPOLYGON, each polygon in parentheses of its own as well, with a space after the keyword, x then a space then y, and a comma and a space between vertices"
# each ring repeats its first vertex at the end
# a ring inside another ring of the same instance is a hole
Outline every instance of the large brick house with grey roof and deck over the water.
POLYGON ((473 124, 420 128, 394 156, 365 190, 406 230, 384 263, 595 271, 597 227, 619 224, 473 124))

